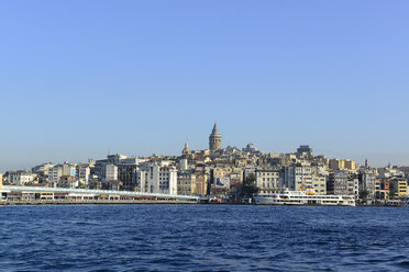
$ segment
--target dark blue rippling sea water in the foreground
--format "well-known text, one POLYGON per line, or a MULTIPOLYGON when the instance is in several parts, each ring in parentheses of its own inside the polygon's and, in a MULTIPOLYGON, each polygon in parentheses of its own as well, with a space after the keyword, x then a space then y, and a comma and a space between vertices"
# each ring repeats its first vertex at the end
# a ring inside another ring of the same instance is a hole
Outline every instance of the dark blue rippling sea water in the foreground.
POLYGON ((1 271, 405 271, 408 207, 0 206, 1 271))

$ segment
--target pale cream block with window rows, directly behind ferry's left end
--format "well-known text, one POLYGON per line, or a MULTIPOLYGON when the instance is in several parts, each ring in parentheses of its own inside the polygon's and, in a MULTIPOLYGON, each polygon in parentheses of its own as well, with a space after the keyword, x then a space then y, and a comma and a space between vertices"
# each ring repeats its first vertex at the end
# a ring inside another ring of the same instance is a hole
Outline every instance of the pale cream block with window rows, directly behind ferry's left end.
POLYGON ((255 183, 258 194, 269 194, 280 190, 280 170, 277 168, 257 168, 255 183))

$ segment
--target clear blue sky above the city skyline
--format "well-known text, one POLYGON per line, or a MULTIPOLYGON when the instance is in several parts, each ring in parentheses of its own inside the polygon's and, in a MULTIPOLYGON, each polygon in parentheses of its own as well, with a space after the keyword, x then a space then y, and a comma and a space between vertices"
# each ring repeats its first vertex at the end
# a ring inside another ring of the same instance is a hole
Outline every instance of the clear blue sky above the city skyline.
POLYGON ((409 1, 0 1, 0 171, 247 143, 409 165, 409 1))

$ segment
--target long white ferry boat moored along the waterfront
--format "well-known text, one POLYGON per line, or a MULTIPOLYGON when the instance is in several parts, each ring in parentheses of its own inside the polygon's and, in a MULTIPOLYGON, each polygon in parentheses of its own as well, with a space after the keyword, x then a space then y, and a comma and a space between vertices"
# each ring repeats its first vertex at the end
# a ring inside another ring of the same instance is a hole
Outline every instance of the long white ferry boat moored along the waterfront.
POLYGON ((329 205, 355 206, 353 195, 319 195, 303 191, 284 191, 273 194, 254 195, 257 205, 329 205))

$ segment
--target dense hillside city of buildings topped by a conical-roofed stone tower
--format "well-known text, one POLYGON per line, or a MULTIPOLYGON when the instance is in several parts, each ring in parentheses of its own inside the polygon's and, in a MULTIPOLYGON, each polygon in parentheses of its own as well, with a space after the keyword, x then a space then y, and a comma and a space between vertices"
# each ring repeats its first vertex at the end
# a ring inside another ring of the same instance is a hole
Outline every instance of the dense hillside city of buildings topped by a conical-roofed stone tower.
MULTIPOLYGON (((386 203, 408 196, 409 167, 372 168, 350 159, 316 156, 308 145, 295 152, 264 152, 248 144, 245 148, 222 148, 214 124, 209 149, 180 156, 126 157, 108 155, 87 163, 33 167, 31 171, 7 171, 0 184, 133 191, 172 195, 218 197, 241 203, 254 194, 309 191, 316 195, 353 195, 360 203, 386 203)), ((9 197, 13 197, 12 193, 9 197)), ((14 195, 21 199, 23 195, 14 195)))

